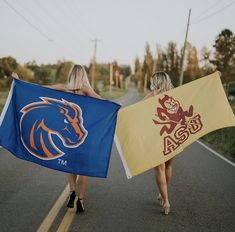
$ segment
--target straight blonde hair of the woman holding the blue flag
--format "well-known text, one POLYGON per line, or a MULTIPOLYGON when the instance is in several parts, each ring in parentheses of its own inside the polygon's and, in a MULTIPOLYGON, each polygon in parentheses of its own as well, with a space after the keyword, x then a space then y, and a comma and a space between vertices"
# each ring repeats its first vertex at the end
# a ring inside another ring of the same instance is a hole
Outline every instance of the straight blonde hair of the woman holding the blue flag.
POLYGON ((68 75, 67 88, 69 90, 79 90, 82 87, 91 88, 86 70, 81 65, 74 65, 68 75))

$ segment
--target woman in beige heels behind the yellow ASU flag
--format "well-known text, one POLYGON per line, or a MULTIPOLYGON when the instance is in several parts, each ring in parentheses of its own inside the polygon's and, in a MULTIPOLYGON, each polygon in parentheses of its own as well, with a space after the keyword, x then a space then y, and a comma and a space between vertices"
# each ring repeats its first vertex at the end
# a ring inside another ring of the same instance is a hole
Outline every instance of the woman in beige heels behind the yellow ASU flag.
MULTIPOLYGON (((174 88, 171 79, 166 72, 155 72, 151 77, 151 92, 144 98, 150 98, 157 94, 163 93, 174 88)), ((170 202, 168 198, 168 184, 172 177, 172 161, 167 162, 154 168, 156 183, 159 188, 158 200, 163 207, 163 212, 167 215, 170 212, 170 202)))

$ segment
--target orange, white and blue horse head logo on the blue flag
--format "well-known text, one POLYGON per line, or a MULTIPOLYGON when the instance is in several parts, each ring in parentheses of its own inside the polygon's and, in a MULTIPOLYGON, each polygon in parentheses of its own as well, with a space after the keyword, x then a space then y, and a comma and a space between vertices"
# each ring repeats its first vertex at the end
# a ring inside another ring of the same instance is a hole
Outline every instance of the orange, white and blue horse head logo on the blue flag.
POLYGON ((37 158, 56 159, 64 152, 56 146, 55 140, 59 138, 65 147, 76 148, 84 142, 88 132, 83 126, 82 110, 78 105, 64 99, 40 99, 42 101, 21 109, 21 141, 37 158))

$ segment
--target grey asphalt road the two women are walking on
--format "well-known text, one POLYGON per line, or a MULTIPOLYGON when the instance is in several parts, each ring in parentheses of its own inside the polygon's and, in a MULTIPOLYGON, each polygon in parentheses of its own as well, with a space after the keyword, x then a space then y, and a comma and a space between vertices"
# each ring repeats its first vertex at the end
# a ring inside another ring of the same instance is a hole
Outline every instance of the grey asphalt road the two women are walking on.
MULTIPOLYGON (((138 100, 132 89, 124 104, 138 100)), ((0 231, 36 231, 66 185, 66 175, 0 149, 0 231)), ((175 157, 169 188, 172 212, 157 202, 152 170, 127 180, 113 145, 107 179, 89 178, 86 211, 72 232, 235 231, 235 168, 199 143, 175 157)), ((57 230, 58 218, 50 231, 57 230)))

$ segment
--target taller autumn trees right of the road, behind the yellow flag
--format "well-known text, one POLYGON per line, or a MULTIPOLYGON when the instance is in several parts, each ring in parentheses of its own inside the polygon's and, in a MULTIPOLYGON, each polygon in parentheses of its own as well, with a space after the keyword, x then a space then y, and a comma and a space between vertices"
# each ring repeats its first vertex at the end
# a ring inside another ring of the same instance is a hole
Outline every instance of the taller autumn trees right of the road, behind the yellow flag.
MULTIPOLYGON (((139 89, 148 89, 152 73, 159 70, 170 75, 175 87, 179 85, 182 49, 179 50, 176 43, 169 42, 165 49, 157 45, 156 51, 156 54, 153 54, 147 43, 143 62, 139 57, 135 59, 134 76, 139 89)), ((200 53, 198 54, 195 46, 187 43, 183 83, 219 70, 222 73, 222 82, 228 90, 229 85, 235 81, 235 35, 233 32, 229 29, 222 30, 216 36, 213 50, 203 47, 200 53)))

